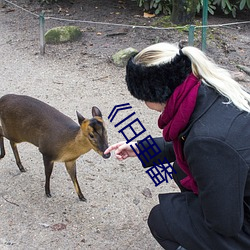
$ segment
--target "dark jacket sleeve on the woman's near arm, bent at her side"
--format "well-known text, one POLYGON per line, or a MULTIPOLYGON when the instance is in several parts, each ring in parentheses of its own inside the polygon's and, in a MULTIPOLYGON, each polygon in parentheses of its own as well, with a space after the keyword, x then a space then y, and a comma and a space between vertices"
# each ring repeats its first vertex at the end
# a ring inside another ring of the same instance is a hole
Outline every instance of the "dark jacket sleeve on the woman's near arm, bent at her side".
POLYGON ((231 145, 210 137, 192 138, 184 154, 207 226, 227 237, 237 235, 244 220, 246 162, 231 145))

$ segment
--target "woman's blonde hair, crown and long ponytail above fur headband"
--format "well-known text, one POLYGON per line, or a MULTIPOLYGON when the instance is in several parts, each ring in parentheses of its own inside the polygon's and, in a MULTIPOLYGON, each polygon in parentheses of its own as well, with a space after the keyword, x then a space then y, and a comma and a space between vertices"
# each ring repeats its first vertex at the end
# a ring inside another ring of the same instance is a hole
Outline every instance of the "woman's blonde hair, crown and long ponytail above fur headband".
MULTIPOLYGON (((195 47, 184 47, 181 52, 190 59, 193 74, 228 99, 224 104, 233 103, 238 109, 250 113, 250 94, 231 77, 227 70, 215 64, 195 47)), ((138 53, 134 62, 145 66, 160 65, 170 62, 177 54, 180 54, 178 45, 157 43, 138 53)))

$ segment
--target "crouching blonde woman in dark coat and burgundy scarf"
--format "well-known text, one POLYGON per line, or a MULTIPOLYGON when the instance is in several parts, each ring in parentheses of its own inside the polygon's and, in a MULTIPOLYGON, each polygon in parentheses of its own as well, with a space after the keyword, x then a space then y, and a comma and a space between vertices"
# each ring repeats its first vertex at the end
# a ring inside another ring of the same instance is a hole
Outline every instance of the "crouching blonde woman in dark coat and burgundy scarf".
MULTIPOLYGON (((169 250, 250 249, 249 93, 199 49, 168 43, 132 57, 126 83, 161 112, 157 158, 174 162, 181 190, 159 195, 148 218, 155 239, 169 250)), ((136 156, 125 142, 112 150, 120 160, 136 156)))

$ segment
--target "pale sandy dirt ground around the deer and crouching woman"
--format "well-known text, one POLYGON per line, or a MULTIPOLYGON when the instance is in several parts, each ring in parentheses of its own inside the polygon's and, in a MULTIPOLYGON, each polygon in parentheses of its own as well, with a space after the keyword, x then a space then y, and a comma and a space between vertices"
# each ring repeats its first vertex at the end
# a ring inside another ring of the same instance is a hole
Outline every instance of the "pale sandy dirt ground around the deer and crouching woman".
MULTIPOLYGON (((98 1, 89 1, 81 15, 88 20, 93 20, 95 15, 100 21, 149 24, 150 21, 138 18, 137 9, 132 13, 127 6, 120 8, 120 2, 108 1, 106 11, 102 12, 105 15, 100 15, 98 1), (114 9, 108 9, 112 7, 114 9), (119 15, 114 14, 117 9, 119 15)), ((40 11, 36 6, 28 7, 37 13, 40 11)), ((79 5, 68 10, 71 18, 79 17, 75 16, 79 5)), ((60 24, 48 22, 46 25, 49 28, 60 24)), ((156 40, 177 41, 183 34, 154 31, 145 35, 142 30, 125 30, 127 35, 111 37, 107 34, 121 29, 98 25, 82 25, 82 28, 85 33, 81 41, 47 46, 46 55, 42 57, 37 18, 12 7, 0 9, 1 96, 31 95, 75 121, 76 110, 90 117, 91 107, 96 105, 106 120, 111 144, 124 138, 107 117, 114 105, 129 102, 146 127, 147 135, 159 136, 158 114, 148 111, 129 95, 124 84, 124 69, 111 64, 108 56, 129 46, 140 49, 156 40)), ((228 34, 226 42, 218 39, 218 43, 209 43, 210 55, 219 63, 225 62, 231 70, 236 70, 237 63, 249 66, 249 28, 237 32, 228 34), (235 40, 230 40, 235 35, 235 40)), ((155 187, 137 158, 120 163, 113 157, 103 160, 95 152, 79 158, 78 180, 88 200, 84 203, 78 200, 62 164, 56 164, 52 174, 53 197, 46 198, 38 150, 28 144, 19 146, 27 169, 20 174, 7 141, 5 145, 7 155, 0 162, 0 249, 161 249, 149 232, 147 216, 158 202, 158 193, 176 191, 176 187, 173 183, 155 187)))

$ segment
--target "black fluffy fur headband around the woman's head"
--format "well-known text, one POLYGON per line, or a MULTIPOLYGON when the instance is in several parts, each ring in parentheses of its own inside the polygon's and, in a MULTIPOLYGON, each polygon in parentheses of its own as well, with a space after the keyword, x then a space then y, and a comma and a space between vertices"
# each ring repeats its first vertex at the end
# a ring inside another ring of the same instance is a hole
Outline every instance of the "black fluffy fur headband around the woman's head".
POLYGON ((170 62, 154 66, 135 64, 134 56, 126 66, 126 82, 131 95, 142 101, 165 103, 192 71, 181 50, 170 62))

